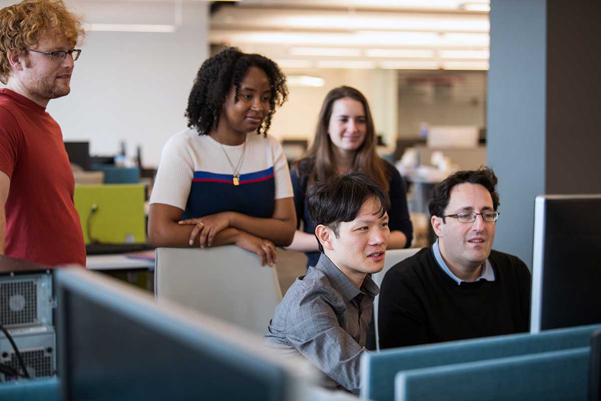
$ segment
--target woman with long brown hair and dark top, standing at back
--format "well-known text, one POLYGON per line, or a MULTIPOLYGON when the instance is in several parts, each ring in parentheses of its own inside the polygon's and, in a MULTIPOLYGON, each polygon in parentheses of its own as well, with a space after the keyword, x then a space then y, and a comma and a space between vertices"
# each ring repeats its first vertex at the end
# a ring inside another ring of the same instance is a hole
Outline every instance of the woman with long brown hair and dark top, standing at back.
POLYGON ((332 174, 360 171, 373 177, 390 197, 388 249, 411 245, 413 226, 407 211, 404 183, 397 169, 376 153, 376 130, 370 106, 360 91, 345 86, 329 91, 319 114, 315 139, 304 158, 294 162, 291 170, 294 207, 304 223, 304 231, 295 231, 288 249, 304 251, 307 266, 315 266, 320 253, 305 194, 313 182, 323 182, 332 174))

